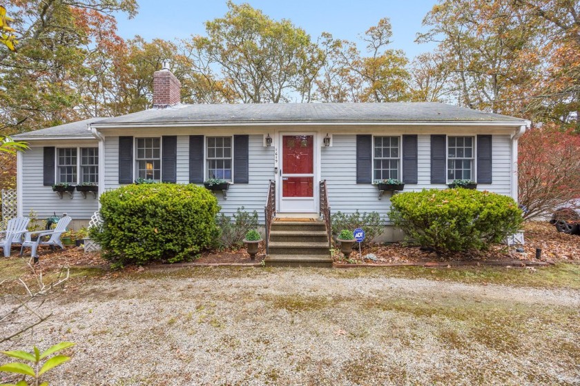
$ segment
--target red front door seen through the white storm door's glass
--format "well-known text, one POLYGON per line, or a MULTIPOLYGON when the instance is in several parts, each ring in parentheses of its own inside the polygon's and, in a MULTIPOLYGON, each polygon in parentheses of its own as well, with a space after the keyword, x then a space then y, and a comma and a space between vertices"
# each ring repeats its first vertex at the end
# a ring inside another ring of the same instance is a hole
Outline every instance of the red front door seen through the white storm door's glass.
POLYGON ((314 137, 282 136, 282 199, 314 196, 314 137))

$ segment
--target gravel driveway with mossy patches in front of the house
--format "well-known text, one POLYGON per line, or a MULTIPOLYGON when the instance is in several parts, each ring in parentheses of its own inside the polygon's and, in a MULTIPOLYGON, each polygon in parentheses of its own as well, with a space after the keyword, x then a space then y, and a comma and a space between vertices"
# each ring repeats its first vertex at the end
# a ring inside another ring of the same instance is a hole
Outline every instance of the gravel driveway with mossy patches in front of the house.
POLYGON ((3 349, 77 343, 51 385, 580 384, 579 291, 197 268, 43 307, 50 323, 3 349))

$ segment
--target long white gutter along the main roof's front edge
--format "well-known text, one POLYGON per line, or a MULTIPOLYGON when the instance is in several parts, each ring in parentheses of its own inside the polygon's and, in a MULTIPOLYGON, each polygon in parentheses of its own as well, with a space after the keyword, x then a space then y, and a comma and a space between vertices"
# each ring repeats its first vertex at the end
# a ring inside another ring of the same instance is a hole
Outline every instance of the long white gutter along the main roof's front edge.
MULTIPOLYGON (((524 123, 527 125, 529 121, 524 123)), ((400 125, 418 125, 418 126, 521 126, 522 121, 260 121, 260 122, 153 122, 153 123, 91 123, 91 128, 158 128, 160 126, 170 126, 172 128, 195 128, 195 127, 230 127, 230 126, 400 126, 400 125)))

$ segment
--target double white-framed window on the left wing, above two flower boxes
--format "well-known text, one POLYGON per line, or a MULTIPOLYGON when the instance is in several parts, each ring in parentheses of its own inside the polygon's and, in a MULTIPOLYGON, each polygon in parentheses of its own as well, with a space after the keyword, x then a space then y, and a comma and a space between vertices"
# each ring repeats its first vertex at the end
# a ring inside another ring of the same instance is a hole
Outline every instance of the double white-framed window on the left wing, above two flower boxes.
POLYGON ((56 161, 57 183, 99 182, 99 148, 57 148, 56 161))

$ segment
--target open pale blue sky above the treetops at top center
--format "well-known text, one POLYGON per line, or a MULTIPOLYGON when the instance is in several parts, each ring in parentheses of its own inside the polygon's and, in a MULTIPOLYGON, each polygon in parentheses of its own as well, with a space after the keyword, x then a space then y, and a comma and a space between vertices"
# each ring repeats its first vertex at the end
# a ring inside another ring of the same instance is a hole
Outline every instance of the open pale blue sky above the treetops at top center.
MULTIPOLYGON (((159 37, 166 40, 184 39, 191 34, 204 34, 204 21, 222 17, 226 0, 139 0, 139 14, 128 20, 117 17, 119 35, 129 39, 139 34, 146 40, 159 37)), ((392 48, 402 49, 412 59, 434 45, 414 43, 423 17, 436 3, 435 0, 235 0, 250 3, 272 19, 290 19, 302 27, 313 40, 321 32, 330 32, 335 38, 356 41, 383 17, 389 17, 393 26, 392 48)), ((359 45, 364 48, 364 45, 359 45)))

